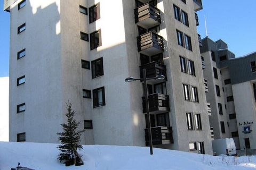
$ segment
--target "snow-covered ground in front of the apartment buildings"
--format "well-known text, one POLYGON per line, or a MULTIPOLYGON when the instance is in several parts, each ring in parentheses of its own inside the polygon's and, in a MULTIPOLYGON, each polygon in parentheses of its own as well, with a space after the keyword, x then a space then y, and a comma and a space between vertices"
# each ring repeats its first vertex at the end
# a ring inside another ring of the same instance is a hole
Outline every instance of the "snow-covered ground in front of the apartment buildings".
POLYGON ((150 155, 147 147, 83 146, 83 166, 66 167, 57 160, 56 144, 0 142, 0 169, 21 166, 36 170, 63 169, 256 169, 256 157, 214 157, 188 152, 156 149, 150 155))

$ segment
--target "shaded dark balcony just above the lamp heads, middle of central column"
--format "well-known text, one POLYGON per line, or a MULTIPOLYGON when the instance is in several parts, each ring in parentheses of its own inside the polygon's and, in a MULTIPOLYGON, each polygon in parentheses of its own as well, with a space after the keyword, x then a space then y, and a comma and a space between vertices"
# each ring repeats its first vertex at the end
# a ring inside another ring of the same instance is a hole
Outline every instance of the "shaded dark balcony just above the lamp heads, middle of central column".
MULTIPOLYGON (((162 74, 166 78, 166 67, 163 64, 159 64, 157 62, 151 62, 145 65, 140 66, 140 78, 143 78, 143 69, 146 69, 147 78, 155 78, 158 75, 162 74)), ((142 80, 141 80, 142 81, 142 80)), ((155 80, 148 80, 148 81, 155 81, 155 80)))

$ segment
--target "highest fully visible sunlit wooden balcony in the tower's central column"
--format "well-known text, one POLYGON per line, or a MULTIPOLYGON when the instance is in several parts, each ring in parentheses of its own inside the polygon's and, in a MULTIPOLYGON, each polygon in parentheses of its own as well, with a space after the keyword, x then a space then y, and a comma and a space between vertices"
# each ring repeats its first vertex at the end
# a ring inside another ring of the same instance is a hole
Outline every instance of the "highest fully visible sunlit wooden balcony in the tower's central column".
POLYGON ((134 10, 135 23, 140 23, 145 28, 153 27, 161 23, 160 10, 147 3, 134 10))

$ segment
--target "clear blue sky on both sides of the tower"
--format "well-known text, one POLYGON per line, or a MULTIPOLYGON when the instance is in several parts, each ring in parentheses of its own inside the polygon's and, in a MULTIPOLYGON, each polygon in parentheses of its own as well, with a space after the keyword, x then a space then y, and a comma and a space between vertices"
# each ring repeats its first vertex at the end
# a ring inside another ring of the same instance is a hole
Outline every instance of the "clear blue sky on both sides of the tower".
MULTIPOLYGON (((202 0, 203 10, 198 11, 198 33, 204 38, 206 16, 207 32, 212 40, 226 41, 229 49, 242 56, 256 51, 256 1, 255 0, 202 0)), ((2 11, 0 1, 0 77, 9 76, 10 14, 2 11)), ((191 22, 191 21, 190 21, 191 22)))

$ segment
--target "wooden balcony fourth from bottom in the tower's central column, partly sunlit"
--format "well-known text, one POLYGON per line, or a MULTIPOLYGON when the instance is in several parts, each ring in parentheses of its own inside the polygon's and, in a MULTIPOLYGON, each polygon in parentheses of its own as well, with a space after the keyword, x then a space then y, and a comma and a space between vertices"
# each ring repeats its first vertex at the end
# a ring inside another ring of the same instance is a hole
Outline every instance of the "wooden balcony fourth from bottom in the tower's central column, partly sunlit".
POLYGON ((164 51, 163 37, 154 32, 147 32, 137 37, 138 52, 154 55, 164 51))

